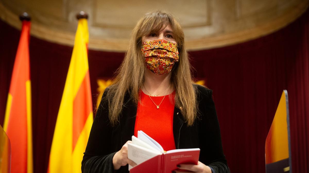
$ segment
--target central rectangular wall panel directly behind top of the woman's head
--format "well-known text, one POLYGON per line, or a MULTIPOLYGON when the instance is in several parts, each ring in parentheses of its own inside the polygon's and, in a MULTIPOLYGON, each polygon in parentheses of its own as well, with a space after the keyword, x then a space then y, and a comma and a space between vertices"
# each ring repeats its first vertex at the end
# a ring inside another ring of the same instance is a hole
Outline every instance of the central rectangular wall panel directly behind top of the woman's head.
POLYGON ((177 16, 184 27, 210 24, 210 0, 166 1, 105 0, 94 2, 94 25, 133 28, 141 16, 149 11, 168 10, 177 16))

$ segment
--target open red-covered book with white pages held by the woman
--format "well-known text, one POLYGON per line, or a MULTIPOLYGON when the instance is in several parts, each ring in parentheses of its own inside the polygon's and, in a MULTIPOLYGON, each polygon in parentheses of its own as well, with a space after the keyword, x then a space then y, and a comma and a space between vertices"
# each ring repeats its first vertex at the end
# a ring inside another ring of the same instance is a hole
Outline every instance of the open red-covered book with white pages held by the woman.
POLYGON ((177 169, 178 164, 197 165, 199 155, 199 148, 164 151, 157 141, 143 131, 138 131, 138 137, 132 136, 132 143, 128 143, 128 158, 137 164, 134 167, 129 165, 130 173, 171 172, 177 169))

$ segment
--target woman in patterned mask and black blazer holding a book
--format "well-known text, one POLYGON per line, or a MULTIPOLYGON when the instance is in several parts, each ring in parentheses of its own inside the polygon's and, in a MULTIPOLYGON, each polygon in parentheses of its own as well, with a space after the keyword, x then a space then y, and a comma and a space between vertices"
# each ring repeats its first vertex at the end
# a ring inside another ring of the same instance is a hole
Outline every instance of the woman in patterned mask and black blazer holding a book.
POLYGON ((135 163, 128 159, 127 143, 142 130, 164 150, 201 149, 197 165, 179 169, 227 172, 212 91, 193 84, 190 68, 174 16, 156 11, 140 19, 115 82, 102 96, 82 171, 128 172, 135 163))

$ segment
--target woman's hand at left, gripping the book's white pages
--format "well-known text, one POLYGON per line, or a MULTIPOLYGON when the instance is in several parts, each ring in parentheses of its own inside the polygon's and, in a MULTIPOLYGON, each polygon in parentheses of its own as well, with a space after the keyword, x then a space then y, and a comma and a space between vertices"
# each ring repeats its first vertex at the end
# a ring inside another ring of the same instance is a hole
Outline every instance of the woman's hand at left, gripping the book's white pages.
POLYGON ((114 170, 118 170, 121 166, 125 166, 127 164, 131 166, 136 165, 136 163, 128 159, 128 143, 132 143, 132 141, 127 141, 125 145, 121 147, 121 150, 115 153, 113 157, 114 170))

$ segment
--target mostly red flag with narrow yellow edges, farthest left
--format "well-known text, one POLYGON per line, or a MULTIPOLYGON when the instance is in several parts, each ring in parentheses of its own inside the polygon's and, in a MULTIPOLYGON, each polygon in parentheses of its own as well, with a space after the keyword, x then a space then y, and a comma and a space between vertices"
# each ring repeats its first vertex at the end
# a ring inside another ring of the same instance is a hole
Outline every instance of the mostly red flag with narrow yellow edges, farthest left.
POLYGON ((11 141, 12 173, 33 172, 29 62, 30 24, 30 21, 23 21, 3 125, 3 129, 11 141))

